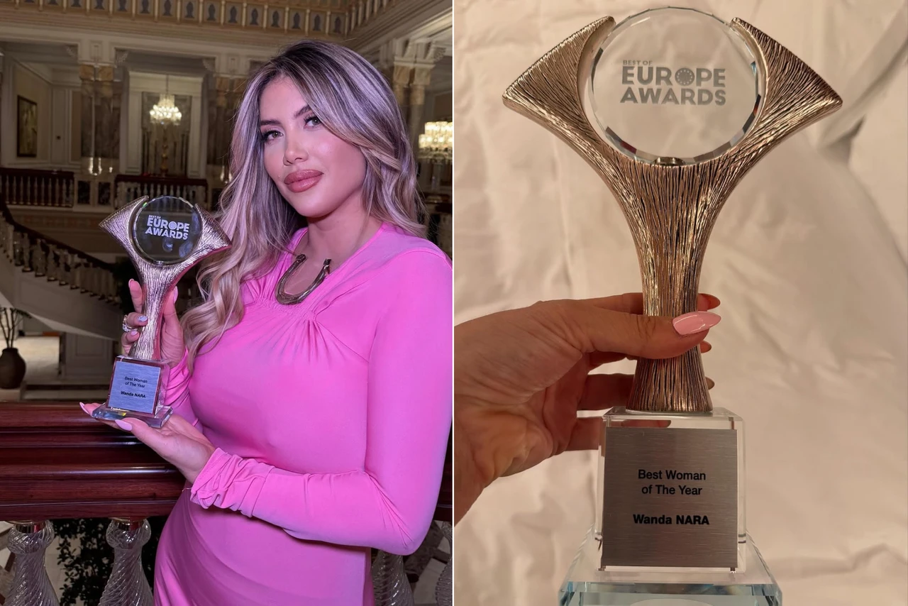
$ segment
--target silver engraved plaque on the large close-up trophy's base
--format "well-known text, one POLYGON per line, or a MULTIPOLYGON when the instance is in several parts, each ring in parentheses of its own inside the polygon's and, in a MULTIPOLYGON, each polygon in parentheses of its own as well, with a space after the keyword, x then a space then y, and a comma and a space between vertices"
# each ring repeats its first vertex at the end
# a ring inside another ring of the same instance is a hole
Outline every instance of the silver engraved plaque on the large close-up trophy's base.
POLYGON ((606 427, 603 448, 602 566, 737 566, 737 432, 606 427))

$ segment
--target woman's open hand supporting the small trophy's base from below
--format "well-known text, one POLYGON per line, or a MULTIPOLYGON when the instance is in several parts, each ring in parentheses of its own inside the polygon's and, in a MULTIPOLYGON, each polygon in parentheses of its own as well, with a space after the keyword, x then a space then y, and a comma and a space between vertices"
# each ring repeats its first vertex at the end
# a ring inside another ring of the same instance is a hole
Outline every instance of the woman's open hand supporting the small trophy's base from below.
MULTIPOLYGON (((79 402, 82 410, 91 415, 101 404, 79 402)), ((111 427, 118 427, 147 444, 154 452, 173 464, 190 483, 195 482, 202 467, 212 456, 214 446, 208 438, 179 414, 163 424, 161 429, 149 427, 144 422, 128 417, 123 421, 102 421, 111 427)))

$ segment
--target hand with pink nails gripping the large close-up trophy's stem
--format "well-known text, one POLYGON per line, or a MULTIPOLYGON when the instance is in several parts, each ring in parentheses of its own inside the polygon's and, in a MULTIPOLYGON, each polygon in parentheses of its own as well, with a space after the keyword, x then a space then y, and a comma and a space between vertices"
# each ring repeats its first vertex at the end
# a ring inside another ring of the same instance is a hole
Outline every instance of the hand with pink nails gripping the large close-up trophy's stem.
MULTIPOLYGON (((643 296, 548 301, 454 328, 455 522, 490 482, 565 450, 595 449, 602 422, 577 417, 627 402, 633 375, 589 374, 624 358, 672 358, 719 321, 697 313, 641 315, 643 296)), ((701 343, 703 342, 703 343, 701 343)))

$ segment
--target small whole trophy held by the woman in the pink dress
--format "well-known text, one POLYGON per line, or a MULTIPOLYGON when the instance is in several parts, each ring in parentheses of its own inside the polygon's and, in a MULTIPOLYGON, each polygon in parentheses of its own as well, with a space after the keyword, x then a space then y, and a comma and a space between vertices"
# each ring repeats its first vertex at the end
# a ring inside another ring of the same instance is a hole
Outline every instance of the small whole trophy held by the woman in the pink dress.
POLYGON ((161 427, 172 412, 163 405, 170 376, 170 364, 161 360, 163 298, 192 265, 229 248, 230 240, 211 214, 172 195, 143 196, 104 219, 101 228, 129 253, 139 273, 148 323, 130 354, 117 356, 107 402, 92 416, 133 417, 161 427))

